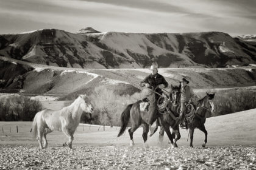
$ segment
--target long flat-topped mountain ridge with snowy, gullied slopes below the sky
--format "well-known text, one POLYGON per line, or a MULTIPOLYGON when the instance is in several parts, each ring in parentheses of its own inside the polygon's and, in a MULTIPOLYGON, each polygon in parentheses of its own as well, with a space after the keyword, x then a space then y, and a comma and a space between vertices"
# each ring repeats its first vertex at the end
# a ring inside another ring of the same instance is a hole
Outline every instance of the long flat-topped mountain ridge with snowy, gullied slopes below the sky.
POLYGON ((256 64, 256 44, 222 32, 121 33, 91 27, 0 35, 0 57, 84 69, 227 67, 256 64))

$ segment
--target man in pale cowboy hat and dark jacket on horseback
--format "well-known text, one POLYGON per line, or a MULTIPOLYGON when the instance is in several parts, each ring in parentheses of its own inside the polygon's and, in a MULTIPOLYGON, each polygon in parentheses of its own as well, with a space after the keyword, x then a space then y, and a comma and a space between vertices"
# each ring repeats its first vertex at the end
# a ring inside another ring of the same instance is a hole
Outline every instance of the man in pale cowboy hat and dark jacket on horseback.
MULTIPOLYGON (((151 70, 151 74, 148 75, 146 78, 144 78, 143 81, 141 81, 140 87, 145 86, 145 87, 151 88, 152 90, 155 90, 155 92, 157 92, 158 94, 162 94, 163 91, 161 89, 168 87, 168 83, 165 80, 165 78, 158 73, 157 66, 151 66, 150 70, 151 70)), ((158 98, 160 97, 160 95, 158 94, 155 94, 156 100, 158 100, 158 98)), ((155 126, 152 126, 150 128, 151 135, 153 135, 155 131, 157 131, 158 121, 156 120, 154 123, 153 122, 151 123, 155 124, 155 126)))

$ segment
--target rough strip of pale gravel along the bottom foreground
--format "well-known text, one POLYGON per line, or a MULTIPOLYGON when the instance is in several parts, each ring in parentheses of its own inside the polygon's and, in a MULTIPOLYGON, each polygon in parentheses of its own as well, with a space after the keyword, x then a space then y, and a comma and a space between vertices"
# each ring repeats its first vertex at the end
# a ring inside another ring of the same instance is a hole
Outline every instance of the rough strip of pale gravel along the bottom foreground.
POLYGON ((1 146, 0 169, 256 169, 256 146, 1 146))

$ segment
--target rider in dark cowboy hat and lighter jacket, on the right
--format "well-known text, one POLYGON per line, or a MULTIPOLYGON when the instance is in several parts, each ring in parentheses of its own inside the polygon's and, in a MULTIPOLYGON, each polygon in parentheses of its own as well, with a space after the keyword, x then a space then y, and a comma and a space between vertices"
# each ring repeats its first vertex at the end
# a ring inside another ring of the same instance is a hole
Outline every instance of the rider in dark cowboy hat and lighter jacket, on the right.
POLYGON ((186 126, 185 121, 183 121, 183 115, 185 112, 185 107, 187 103, 191 102, 191 98, 194 97, 193 89, 188 86, 190 81, 186 78, 182 78, 180 81, 180 117, 179 120, 181 121, 180 126, 186 126))

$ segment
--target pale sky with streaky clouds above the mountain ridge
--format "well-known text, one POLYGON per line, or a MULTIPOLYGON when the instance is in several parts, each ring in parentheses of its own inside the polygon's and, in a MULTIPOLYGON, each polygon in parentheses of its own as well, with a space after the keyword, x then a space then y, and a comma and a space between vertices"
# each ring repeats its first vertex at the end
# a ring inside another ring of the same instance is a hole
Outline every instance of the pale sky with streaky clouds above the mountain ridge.
POLYGON ((255 0, 0 0, 0 34, 38 29, 256 34, 255 0))

